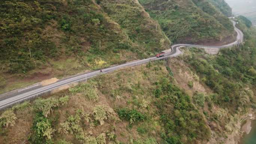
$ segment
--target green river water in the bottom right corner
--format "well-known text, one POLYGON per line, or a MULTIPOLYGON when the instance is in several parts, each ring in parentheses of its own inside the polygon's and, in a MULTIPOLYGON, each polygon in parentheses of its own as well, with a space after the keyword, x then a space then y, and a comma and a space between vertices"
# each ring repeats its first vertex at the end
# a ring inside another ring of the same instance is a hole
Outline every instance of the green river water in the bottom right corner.
POLYGON ((245 134, 241 140, 241 144, 256 144, 256 120, 252 121, 252 130, 250 134, 245 134))

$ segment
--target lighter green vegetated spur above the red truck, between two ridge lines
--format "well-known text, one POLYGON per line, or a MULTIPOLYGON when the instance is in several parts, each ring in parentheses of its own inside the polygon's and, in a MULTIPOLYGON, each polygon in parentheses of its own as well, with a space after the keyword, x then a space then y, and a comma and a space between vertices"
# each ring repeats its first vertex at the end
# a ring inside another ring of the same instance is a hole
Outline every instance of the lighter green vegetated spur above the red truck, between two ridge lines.
MULTIPOLYGON (((138 42, 141 50, 152 55, 170 43, 163 37, 161 30, 156 30, 156 22, 147 17, 146 12, 132 0, 101 0, 100 6, 126 32, 132 42, 138 42), (162 37, 162 38, 160 38, 162 37), (159 39, 160 38, 160 39, 159 39)), ((135 52, 140 52, 135 50, 135 52)), ((144 53, 144 52, 140 52, 144 53)))

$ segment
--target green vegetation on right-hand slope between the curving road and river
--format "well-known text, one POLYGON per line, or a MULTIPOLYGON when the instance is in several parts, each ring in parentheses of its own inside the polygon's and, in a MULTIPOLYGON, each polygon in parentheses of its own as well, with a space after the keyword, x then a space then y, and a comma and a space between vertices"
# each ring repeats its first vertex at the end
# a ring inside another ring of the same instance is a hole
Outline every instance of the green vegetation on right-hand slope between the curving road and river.
MULTIPOLYGON (((214 56, 189 48, 189 52, 183 56, 184 62, 199 76, 200 82, 213 91, 213 94, 206 96, 194 94, 193 102, 203 110, 208 108, 209 111, 202 112, 209 122, 222 128, 217 132, 220 135, 227 134, 224 131, 233 131, 238 115, 248 113, 256 103, 253 96, 256 84, 256 29, 248 28, 240 18, 237 21, 238 27, 246 36, 239 48, 223 49, 214 56), (204 103, 207 104, 206 107, 204 103), (216 107, 219 107, 217 111, 216 107)), ((212 125, 211 129, 215 130, 216 126, 212 125)))

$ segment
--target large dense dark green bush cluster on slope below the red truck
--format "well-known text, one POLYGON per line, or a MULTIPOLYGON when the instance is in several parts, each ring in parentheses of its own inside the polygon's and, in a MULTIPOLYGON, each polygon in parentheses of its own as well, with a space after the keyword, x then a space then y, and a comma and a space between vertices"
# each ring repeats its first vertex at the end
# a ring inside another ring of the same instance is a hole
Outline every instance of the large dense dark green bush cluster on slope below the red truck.
POLYGON ((165 129, 162 134, 163 143, 182 144, 207 140, 210 130, 189 96, 166 78, 159 80, 158 85, 164 94, 155 102, 165 129))

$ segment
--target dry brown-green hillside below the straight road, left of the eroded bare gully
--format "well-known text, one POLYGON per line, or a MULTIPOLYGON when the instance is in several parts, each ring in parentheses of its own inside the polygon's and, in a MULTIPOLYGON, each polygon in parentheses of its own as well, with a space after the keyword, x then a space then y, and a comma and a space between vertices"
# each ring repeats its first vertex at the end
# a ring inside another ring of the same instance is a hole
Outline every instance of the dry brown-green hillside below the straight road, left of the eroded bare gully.
POLYGON ((190 96, 174 83, 173 73, 165 65, 165 61, 157 61, 125 68, 46 99, 17 105, 1 115, 0 124, 4 127, 0 129, 0 141, 2 144, 207 142, 210 128, 204 116, 190 96), (16 137, 12 138, 13 135, 16 137))

